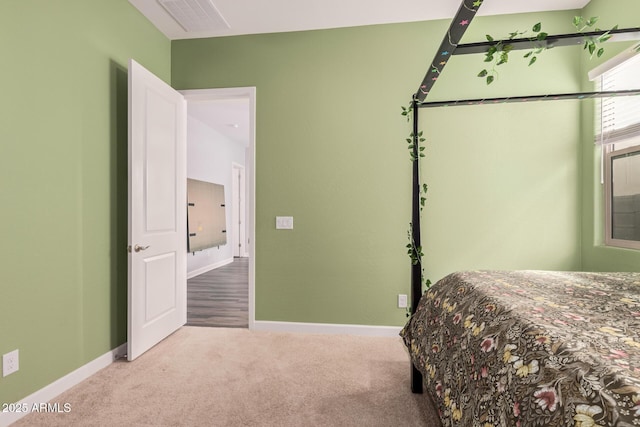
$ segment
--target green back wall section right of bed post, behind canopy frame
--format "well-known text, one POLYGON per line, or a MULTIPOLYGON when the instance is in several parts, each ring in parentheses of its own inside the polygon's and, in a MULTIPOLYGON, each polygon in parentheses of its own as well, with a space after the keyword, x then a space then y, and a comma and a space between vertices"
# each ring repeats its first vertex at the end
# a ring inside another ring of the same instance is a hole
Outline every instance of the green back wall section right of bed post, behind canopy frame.
MULTIPOLYGON (((465 41, 523 31, 537 22, 571 32, 575 11, 479 17, 465 41)), ((482 55, 455 56, 433 100, 579 90, 579 52, 550 50, 529 67, 513 52, 487 86, 482 55)), ((580 101, 423 109, 429 184, 423 238, 431 280, 466 269, 580 268, 580 101)))

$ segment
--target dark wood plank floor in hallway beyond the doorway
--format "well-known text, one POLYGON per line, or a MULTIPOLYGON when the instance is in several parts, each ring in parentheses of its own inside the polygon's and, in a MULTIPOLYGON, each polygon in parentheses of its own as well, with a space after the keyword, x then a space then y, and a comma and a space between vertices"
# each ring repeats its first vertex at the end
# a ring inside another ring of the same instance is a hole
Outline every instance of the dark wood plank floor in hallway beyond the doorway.
POLYGON ((249 258, 187 280, 187 325, 249 327, 249 258))

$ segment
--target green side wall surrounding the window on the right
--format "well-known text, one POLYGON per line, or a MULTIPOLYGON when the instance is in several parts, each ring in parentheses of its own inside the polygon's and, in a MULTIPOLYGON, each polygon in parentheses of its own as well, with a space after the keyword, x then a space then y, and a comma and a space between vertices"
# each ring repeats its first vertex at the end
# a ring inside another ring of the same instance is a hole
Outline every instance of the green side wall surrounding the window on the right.
MULTIPOLYGON (((599 16, 598 25, 601 28, 611 28, 616 24, 620 28, 636 28, 640 16, 640 2, 591 0, 584 10, 584 16, 599 16)), ((634 42, 609 43, 605 55, 591 61, 588 60, 588 56, 583 55, 583 90, 594 90, 593 83, 587 79, 589 70, 633 45, 634 42)), ((582 114, 583 268, 592 271, 640 271, 640 251, 604 246, 604 196, 600 183, 600 148, 593 145, 593 105, 593 102, 585 103, 582 114)))

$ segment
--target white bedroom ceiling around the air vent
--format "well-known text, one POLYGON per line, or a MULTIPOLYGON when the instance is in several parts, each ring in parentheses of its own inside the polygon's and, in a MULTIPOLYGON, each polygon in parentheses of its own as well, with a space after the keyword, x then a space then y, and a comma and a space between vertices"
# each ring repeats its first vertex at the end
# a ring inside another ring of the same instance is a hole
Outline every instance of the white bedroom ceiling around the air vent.
MULTIPOLYGON (((210 2, 229 24, 229 28, 193 32, 176 23, 158 0, 129 2, 169 39, 176 40, 446 19, 455 15, 462 0, 182 0, 210 2)), ((587 3, 589 0, 484 0, 478 15, 581 9, 587 3)))

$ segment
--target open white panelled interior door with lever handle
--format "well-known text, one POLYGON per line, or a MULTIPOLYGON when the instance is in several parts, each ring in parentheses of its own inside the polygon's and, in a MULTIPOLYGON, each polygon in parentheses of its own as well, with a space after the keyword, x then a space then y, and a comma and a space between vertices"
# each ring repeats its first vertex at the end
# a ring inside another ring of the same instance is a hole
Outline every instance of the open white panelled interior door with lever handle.
POLYGON ((187 321, 186 101, 129 61, 129 310, 133 360, 187 321))

